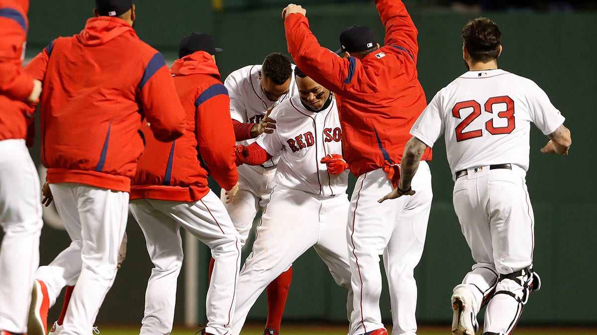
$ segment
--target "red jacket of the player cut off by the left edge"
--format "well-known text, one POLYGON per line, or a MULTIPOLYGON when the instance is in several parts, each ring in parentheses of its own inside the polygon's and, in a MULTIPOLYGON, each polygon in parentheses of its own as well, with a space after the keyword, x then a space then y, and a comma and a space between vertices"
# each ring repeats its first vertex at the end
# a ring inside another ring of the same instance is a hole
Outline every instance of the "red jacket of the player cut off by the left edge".
POLYGON ((27 100, 33 77, 24 72, 29 1, 0 0, 0 141, 27 135, 27 100))

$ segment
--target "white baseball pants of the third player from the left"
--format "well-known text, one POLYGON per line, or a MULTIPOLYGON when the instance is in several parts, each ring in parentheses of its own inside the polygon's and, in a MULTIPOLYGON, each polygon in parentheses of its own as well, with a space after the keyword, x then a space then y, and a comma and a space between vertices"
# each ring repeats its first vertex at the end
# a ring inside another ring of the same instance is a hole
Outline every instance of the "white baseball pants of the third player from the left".
POLYGON ((214 335, 230 333, 241 239, 220 199, 212 191, 196 202, 137 199, 131 212, 145 235, 154 268, 147 282, 140 334, 170 334, 174 322, 176 284, 183 262, 180 227, 211 249, 216 260, 207 291, 207 327, 214 335))

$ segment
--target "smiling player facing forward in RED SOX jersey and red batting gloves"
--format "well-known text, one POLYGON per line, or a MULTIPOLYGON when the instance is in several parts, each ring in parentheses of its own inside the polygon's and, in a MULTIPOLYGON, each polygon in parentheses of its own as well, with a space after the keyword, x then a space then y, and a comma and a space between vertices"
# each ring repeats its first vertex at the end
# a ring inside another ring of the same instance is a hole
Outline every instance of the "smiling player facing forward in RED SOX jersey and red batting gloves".
MULTIPOLYGON (((349 201, 336 101, 298 67, 294 73, 298 95, 273 108, 276 131, 245 150, 248 164, 280 159, 253 252, 238 278, 233 334, 241 332, 266 286, 312 246, 336 283, 350 291, 346 240, 338 238, 346 233, 349 201)), ((347 306, 352 310, 352 294, 347 306)))

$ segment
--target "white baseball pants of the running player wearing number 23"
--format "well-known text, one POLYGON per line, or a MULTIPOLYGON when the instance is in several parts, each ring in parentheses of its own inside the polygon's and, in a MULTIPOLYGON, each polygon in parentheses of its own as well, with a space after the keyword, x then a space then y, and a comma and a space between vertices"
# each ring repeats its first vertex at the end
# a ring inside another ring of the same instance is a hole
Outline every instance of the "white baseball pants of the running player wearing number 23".
MULTIPOLYGON (((497 282, 497 276, 533 264, 534 215, 525 176, 516 165, 494 170, 485 166, 469 169, 454 184, 454 210, 476 263, 456 288, 467 286, 473 292, 475 312, 494 290, 509 291, 518 299, 524 295, 516 281, 497 282)), ((522 305, 512 296, 496 294, 485 310, 484 331, 510 333, 522 305)))

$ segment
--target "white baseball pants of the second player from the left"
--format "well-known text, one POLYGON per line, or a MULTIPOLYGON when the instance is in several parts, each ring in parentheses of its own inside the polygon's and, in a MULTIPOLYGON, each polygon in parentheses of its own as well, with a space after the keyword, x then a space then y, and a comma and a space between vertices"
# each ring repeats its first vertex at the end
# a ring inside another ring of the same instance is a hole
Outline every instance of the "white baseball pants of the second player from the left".
POLYGON ((46 284, 50 306, 64 286, 75 286, 59 334, 88 334, 116 277, 128 193, 70 182, 50 184, 50 190, 72 243, 35 278, 46 284))

